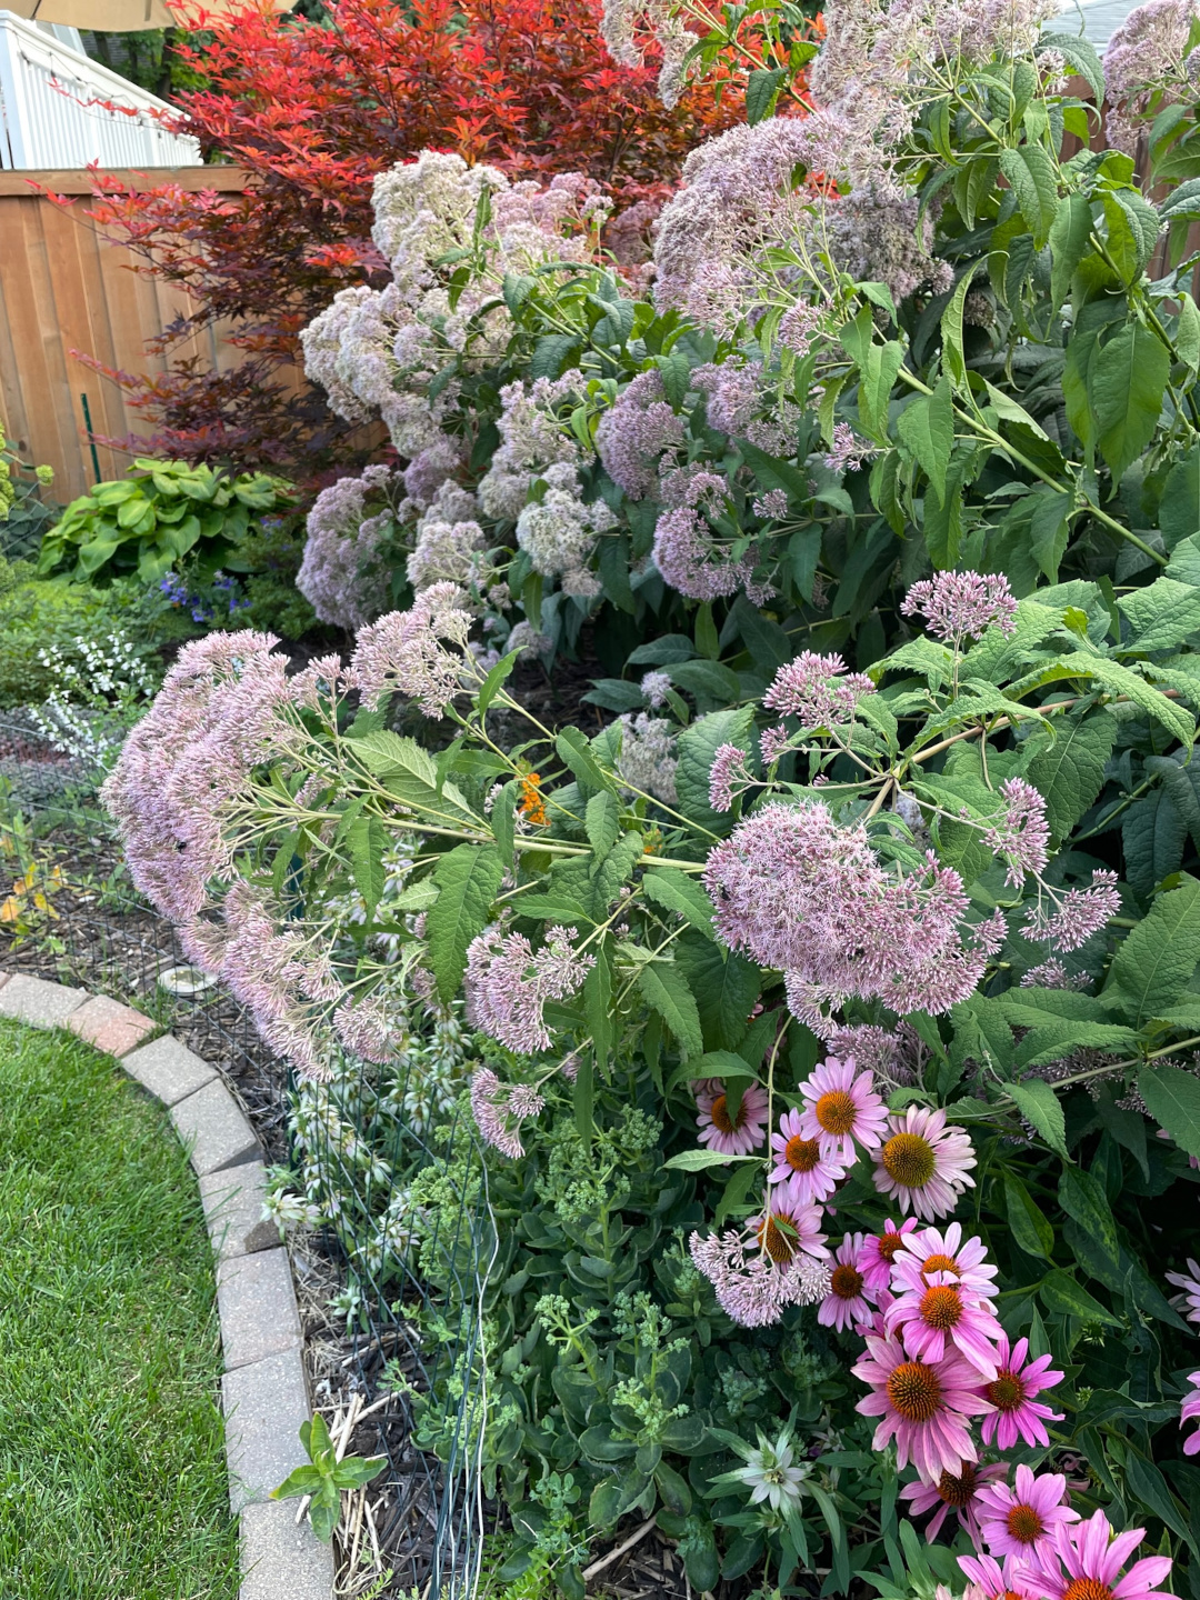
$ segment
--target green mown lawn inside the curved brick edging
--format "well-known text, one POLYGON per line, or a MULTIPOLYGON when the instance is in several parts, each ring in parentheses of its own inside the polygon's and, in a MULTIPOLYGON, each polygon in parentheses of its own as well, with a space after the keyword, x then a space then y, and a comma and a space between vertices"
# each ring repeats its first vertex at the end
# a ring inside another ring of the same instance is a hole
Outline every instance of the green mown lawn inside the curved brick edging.
POLYGON ((0 1022, 0 1600, 234 1600, 213 1266, 165 1114, 0 1022))

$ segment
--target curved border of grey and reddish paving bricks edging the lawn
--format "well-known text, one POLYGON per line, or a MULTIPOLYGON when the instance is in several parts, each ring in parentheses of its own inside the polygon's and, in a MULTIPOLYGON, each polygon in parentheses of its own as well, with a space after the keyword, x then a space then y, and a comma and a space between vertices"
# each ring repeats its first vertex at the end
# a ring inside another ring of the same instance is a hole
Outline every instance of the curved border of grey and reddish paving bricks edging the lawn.
POLYGON ((70 1029, 115 1056, 166 1107, 200 1184, 216 1258, 240 1600, 331 1600, 328 1546, 307 1522, 296 1525, 294 1502, 267 1498, 304 1464, 299 1426, 312 1413, 288 1253, 262 1221, 266 1168, 245 1112, 213 1067, 171 1034, 144 1045, 157 1024, 107 995, 0 971, 0 1018, 70 1029))

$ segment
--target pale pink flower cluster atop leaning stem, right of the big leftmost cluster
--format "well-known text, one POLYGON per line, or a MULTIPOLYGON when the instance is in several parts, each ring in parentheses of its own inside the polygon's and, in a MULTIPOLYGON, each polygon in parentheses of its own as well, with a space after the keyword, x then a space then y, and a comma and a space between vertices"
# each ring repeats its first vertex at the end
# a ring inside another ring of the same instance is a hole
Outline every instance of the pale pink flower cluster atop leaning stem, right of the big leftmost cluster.
POLYGON ((462 691, 464 674, 477 675, 469 664, 472 618, 466 603, 458 584, 432 584, 408 611, 389 611, 358 632, 350 678, 368 710, 398 691, 414 699, 426 717, 442 720, 462 691))

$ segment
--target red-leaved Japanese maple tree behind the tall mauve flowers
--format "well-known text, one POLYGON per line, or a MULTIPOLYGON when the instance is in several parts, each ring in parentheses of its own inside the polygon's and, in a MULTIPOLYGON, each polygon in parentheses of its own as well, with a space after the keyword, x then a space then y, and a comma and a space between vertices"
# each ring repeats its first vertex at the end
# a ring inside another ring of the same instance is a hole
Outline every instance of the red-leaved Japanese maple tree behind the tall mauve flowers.
POLYGON ((235 162, 245 194, 96 176, 90 216, 141 270, 186 286, 197 310, 160 341, 234 320, 232 373, 176 363, 160 379, 109 373, 157 432, 138 448, 299 470, 354 453, 320 395, 283 368, 298 333, 347 283, 382 267, 370 243, 371 182, 421 149, 458 150, 514 174, 586 171, 619 203, 664 194, 685 154, 741 114, 728 85, 667 112, 656 62, 618 67, 600 0, 331 0, 325 21, 267 0, 214 18, 182 46, 205 86, 181 126, 206 160, 235 162))

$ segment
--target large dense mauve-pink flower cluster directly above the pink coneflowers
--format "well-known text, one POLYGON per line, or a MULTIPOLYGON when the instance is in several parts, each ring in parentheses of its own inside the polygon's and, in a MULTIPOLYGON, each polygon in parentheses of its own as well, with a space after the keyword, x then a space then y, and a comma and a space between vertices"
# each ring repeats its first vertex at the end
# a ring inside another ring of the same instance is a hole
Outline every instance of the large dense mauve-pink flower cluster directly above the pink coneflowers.
POLYGON ((717 931, 782 970, 800 1021, 850 995, 896 1013, 947 1011, 973 994, 1003 939, 1003 917, 965 928, 957 872, 930 853, 920 877, 886 872, 859 822, 819 802, 766 805, 709 854, 704 885, 717 931))

